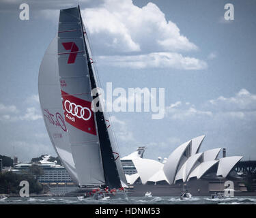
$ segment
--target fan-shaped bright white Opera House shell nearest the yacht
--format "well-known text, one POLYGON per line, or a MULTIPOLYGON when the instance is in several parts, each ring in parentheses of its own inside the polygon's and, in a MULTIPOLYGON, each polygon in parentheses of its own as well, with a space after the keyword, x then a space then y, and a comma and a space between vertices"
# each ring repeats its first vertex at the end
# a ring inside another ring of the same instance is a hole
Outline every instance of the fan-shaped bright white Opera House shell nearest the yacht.
POLYGON ((154 159, 144 159, 140 157, 133 159, 132 161, 143 184, 147 183, 147 180, 163 167, 162 163, 155 161, 154 159))

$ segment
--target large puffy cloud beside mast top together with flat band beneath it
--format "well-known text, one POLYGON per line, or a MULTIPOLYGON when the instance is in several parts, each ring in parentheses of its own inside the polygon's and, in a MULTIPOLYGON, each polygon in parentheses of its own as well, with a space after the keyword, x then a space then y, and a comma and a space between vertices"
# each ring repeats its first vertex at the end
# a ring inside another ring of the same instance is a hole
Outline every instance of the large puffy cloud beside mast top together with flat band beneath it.
POLYGON ((205 61, 180 54, 197 50, 197 46, 154 3, 137 7, 132 0, 105 0, 81 13, 94 38, 100 64, 135 69, 207 67, 205 61), (130 52, 128 56, 126 52, 130 52))

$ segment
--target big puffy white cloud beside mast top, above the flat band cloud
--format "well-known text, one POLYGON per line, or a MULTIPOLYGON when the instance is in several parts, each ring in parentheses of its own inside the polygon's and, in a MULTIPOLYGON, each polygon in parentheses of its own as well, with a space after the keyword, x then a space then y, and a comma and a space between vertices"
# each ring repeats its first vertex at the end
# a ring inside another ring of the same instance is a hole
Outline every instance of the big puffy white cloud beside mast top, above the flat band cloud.
POLYGON ((105 0, 100 7, 87 8, 81 13, 89 33, 104 34, 104 40, 98 44, 119 52, 197 50, 154 3, 140 8, 132 0, 105 0))

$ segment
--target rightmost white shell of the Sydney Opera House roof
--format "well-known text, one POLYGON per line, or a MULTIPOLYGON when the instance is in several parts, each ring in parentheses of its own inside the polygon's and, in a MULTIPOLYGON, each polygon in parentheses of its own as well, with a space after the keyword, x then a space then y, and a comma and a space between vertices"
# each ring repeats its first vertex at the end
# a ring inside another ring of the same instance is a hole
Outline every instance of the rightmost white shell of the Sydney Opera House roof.
POLYGON ((242 156, 223 157, 219 160, 217 176, 223 176, 224 178, 232 170, 233 166, 242 159, 242 156))

